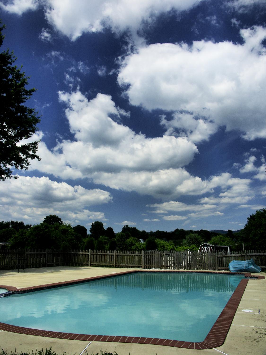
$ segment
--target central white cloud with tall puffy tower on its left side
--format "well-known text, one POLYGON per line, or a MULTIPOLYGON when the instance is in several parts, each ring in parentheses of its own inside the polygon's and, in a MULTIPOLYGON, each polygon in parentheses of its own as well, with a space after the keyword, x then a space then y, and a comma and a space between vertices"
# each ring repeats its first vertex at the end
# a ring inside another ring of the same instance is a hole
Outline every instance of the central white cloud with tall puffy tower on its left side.
POLYGON ((188 193, 205 188, 201 179, 183 168, 198 152, 186 137, 146 138, 135 133, 117 122, 128 113, 117 108, 109 95, 98 94, 88 101, 80 91, 59 92, 59 100, 66 107, 75 140, 58 142, 52 150, 40 142, 41 161, 33 160, 29 169, 63 179, 89 178, 115 189, 154 196, 179 194, 177 186, 184 180, 188 180, 188 193))

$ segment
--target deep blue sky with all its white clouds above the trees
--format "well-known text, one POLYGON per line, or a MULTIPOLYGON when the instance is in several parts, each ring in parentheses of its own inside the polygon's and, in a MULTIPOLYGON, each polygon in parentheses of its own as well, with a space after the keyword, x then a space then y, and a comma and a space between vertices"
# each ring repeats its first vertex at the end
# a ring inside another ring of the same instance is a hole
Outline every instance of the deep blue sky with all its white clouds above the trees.
POLYGON ((265 208, 265 0, 8 0, 41 161, 1 220, 232 229, 265 208))

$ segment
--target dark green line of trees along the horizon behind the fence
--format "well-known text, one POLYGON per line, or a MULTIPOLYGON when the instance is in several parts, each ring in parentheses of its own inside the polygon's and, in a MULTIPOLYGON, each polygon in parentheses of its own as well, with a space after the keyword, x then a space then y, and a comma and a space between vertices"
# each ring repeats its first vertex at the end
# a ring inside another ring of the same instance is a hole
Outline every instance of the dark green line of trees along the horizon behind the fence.
POLYGON ((177 250, 197 251, 204 242, 213 245, 231 245, 232 250, 266 249, 266 209, 257 210, 247 219, 238 233, 228 230, 218 234, 205 229, 175 229, 172 232, 138 230, 124 225, 115 233, 102 222, 92 223, 89 233, 83 225, 71 226, 56 215, 46 216, 40 224, 22 221, 0 222, 0 242, 9 248, 27 249, 92 249, 92 250, 177 250), (142 240, 142 241, 141 241, 142 240), (144 242, 143 242, 144 241, 144 242))

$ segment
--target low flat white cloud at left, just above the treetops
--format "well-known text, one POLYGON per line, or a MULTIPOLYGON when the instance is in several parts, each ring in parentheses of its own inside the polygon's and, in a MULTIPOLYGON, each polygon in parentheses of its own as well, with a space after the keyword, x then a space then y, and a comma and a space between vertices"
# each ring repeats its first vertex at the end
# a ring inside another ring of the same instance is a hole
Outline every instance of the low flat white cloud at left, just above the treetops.
POLYGON ((48 177, 20 176, 18 179, 0 181, 0 211, 5 220, 26 220, 40 223, 46 215, 56 214, 64 222, 87 223, 88 219, 105 220, 104 213, 87 208, 111 202, 109 192, 87 190, 80 185, 51 181, 48 177))

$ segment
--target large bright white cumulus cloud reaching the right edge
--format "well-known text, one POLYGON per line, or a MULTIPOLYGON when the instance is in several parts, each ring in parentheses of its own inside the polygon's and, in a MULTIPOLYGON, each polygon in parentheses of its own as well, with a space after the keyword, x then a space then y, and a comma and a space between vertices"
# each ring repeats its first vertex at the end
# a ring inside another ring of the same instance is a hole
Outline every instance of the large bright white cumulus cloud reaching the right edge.
POLYGON ((218 126, 247 140, 266 137, 266 28, 242 29, 244 44, 151 44, 128 55, 118 83, 132 105, 177 111, 167 132, 199 142, 218 126), (252 117, 252 120, 250 119, 252 117))

